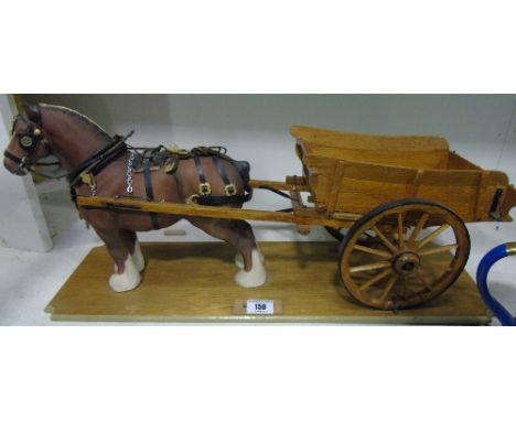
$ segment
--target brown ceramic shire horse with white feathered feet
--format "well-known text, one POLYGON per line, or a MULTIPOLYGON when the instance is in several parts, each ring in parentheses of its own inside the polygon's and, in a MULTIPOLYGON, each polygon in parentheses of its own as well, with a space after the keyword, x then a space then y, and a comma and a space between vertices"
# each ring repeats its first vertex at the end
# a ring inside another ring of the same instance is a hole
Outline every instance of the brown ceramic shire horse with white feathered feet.
MULTIPOLYGON (((83 196, 127 196, 130 192, 133 197, 150 198, 150 187, 155 201, 186 203, 200 195, 223 198, 244 197, 246 193, 247 181, 235 165, 237 161, 226 155, 219 154, 218 160, 209 154, 186 155, 174 162, 173 173, 165 166, 136 172, 132 171, 135 154, 123 141, 121 137, 109 137, 98 125, 68 108, 25 106, 13 121, 3 164, 11 173, 25 175, 35 162, 53 154, 68 172, 71 190, 83 196)), ((243 202, 223 199, 213 204, 241 207, 243 202)), ((141 281, 144 258, 136 233, 164 228, 182 219, 175 215, 103 208, 78 207, 78 212, 94 227, 115 260, 109 285, 116 292, 133 290, 141 281)), ((266 282, 264 257, 248 223, 187 215, 184 218, 237 250, 235 263, 239 271, 235 280, 239 285, 254 288, 266 282)))

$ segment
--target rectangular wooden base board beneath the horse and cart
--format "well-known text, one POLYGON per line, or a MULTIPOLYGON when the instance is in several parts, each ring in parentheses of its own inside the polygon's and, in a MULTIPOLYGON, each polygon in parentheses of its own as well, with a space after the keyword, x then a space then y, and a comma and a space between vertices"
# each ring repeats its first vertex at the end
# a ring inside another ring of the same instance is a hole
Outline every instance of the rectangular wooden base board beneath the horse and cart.
POLYGON ((55 321, 487 324, 490 314, 467 273, 441 296, 397 313, 365 307, 338 285, 337 242, 262 242, 269 272, 258 289, 234 281, 234 250, 224 242, 142 244, 143 282, 116 293, 114 263, 94 248, 46 312, 55 321), (234 315, 235 300, 282 300, 282 315, 234 315))

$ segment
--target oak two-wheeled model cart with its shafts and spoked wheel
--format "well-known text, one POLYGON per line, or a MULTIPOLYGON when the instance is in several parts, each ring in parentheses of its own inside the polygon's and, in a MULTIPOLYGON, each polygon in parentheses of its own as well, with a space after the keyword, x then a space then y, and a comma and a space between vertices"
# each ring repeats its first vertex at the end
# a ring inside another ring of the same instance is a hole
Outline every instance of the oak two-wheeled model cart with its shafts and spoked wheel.
POLYGON ((290 212, 234 209, 78 197, 79 206, 226 219, 293 223, 300 233, 325 226, 342 238, 341 281, 376 309, 428 302, 460 276, 470 253, 464 223, 509 222, 516 190, 507 175, 484 171, 433 137, 385 137, 293 127, 303 176, 254 180, 254 188, 289 192, 290 212), (305 205, 302 193, 309 192, 305 205), (345 235, 341 233, 346 229, 345 235))

